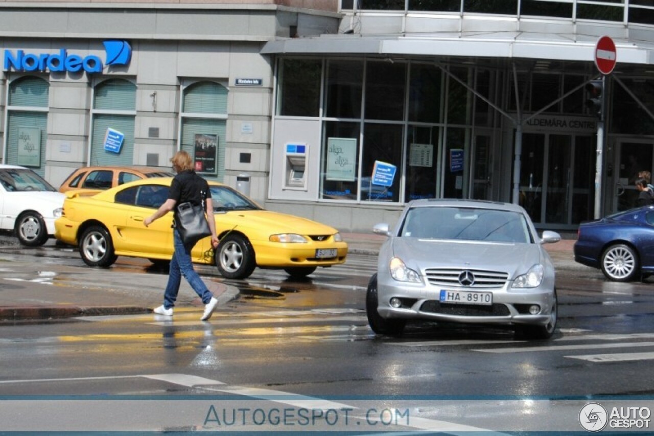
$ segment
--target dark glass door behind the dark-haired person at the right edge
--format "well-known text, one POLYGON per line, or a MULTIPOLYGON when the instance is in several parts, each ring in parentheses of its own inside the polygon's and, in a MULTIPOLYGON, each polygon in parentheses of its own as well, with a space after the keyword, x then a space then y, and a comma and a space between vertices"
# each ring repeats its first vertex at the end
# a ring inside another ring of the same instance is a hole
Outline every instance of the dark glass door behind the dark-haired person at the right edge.
POLYGON ((652 171, 654 158, 654 144, 649 141, 623 141, 618 144, 618 153, 615 154, 615 168, 617 177, 614 178, 613 211, 623 211, 636 207, 638 190, 634 182, 638 173, 652 171))

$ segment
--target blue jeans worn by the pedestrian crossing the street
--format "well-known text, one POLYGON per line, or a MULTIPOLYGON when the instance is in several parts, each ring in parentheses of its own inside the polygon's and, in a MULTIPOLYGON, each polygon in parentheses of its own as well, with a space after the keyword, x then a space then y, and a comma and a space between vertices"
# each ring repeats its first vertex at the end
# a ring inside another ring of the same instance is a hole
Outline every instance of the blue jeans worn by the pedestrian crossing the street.
POLYGON ((175 253, 173 253, 173 259, 170 260, 170 273, 168 284, 163 294, 163 307, 169 309, 175 306, 182 276, 184 276, 186 282, 191 285, 193 290, 196 291, 202 302, 207 304, 211 300, 211 297, 213 297, 213 294, 207 289, 207 285, 204 284, 198 273, 193 269, 193 263, 191 262, 191 249, 193 245, 184 245, 182 238, 179 237, 177 228, 173 230, 173 244, 175 245, 175 253))

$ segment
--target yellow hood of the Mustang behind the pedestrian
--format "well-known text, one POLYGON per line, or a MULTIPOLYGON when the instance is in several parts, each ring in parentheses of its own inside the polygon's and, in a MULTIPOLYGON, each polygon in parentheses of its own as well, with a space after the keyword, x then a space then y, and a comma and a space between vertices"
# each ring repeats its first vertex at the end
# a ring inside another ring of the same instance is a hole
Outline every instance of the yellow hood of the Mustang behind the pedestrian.
POLYGON ((297 234, 335 234, 336 228, 311 221, 310 219, 286 215, 286 213, 269 210, 228 211, 215 213, 218 228, 256 227, 267 234, 297 233, 297 234), (228 223, 231 223, 229 225, 228 223))

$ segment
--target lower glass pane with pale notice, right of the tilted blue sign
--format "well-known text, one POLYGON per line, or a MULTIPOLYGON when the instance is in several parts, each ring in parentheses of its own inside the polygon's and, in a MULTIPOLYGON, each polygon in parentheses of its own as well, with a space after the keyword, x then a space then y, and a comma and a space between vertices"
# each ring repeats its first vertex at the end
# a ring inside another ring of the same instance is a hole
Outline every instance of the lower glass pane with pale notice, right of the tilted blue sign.
POLYGON ((409 126, 404 201, 436 198, 438 127, 409 126))

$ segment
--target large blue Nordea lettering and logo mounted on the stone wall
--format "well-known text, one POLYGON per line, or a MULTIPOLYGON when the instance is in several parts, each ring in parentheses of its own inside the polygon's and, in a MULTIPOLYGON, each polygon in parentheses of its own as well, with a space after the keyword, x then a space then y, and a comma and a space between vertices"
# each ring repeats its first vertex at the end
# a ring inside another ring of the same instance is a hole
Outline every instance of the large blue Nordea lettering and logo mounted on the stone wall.
MULTIPOLYGON (((128 65, 131 59, 131 47, 127 41, 105 41, 105 52, 107 53, 107 65, 128 65)), ((61 48, 56 54, 26 53, 18 50, 14 55, 5 50, 5 70, 15 71, 67 71, 76 73, 84 69, 87 73, 101 73, 102 61, 94 55, 78 56, 68 54, 65 48, 61 48)))

